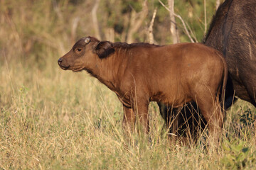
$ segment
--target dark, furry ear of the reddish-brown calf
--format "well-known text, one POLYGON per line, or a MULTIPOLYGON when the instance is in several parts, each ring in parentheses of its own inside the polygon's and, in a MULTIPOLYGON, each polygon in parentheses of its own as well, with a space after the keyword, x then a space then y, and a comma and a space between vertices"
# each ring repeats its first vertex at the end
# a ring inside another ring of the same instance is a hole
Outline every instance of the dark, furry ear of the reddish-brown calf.
POLYGON ((105 58, 114 52, 112 42, 101 41, 95 47, 95 52, 100 58, 105 58))

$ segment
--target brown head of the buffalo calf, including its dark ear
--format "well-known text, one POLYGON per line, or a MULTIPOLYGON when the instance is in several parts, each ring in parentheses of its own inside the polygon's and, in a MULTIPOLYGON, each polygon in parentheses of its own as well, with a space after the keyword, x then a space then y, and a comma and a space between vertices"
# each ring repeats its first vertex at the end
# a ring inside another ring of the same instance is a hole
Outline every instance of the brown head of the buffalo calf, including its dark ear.
POLYGON ((97 63, 114 52, 112 42, 99 41, 96 38, 85 37, 75 42, 72 49, 60 57, 58 64, 61 69, 69 69, 74 72, 83 69, 90 71, 97 67, 97 63))

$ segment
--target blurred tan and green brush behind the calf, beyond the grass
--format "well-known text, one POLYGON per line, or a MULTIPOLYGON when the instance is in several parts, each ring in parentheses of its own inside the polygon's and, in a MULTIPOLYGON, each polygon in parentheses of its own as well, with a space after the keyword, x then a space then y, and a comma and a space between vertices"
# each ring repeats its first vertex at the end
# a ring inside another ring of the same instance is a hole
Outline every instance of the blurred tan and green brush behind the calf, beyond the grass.
MULTIPOLYGON (((167 0, 162 0, 168 6, 167 0)), ((180 15, 193 35, 201 41, 206 23, 215 13, 216 0, 175 1, 180 15)), ((48 52, 60 57, 81 37, 100 40, 149 42, 149 24, 156 9, 154 43, 170 44, 169 11, 158 0, 1 0, 1 63, 22 61, 43 67, 48 52), (31 62, 28 62, 31 61, 31 62)), ((181 42, 189 41, 181 21, 176 18, 181 42)))

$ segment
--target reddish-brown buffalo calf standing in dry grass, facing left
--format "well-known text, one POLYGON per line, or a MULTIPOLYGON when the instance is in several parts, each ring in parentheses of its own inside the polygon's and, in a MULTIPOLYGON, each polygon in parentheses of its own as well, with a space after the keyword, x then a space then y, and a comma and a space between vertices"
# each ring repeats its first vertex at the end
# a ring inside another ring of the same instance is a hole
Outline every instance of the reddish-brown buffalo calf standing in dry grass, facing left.
POLYGON ((133 129, 139 118, 149 132, 150 101, 172 107, 196 101, 210 132, 222 128, 218 97, 225 89, 227 66, 220 52, 201 43, 157 46, 88 38, 88 43, 78 40, 58 64, 86 70, 114 91, 123 104, 124 128, 133 129))

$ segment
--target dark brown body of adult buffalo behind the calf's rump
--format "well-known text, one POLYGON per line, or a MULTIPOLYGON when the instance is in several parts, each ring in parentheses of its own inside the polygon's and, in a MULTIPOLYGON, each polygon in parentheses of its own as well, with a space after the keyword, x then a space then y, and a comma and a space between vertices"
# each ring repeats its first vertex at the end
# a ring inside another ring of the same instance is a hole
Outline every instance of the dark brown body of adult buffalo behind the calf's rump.
POLYGON ((225 103, 235 96, 256 107, 256 1, 226 0, 213 17, 204 43, 223 52, 229 76, 225 103), (232 85, 233 84, 233 85, 232 85), (227 100, 228 99, 228 100, 227 100))

